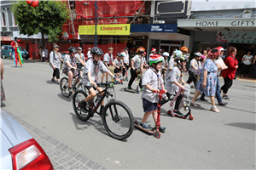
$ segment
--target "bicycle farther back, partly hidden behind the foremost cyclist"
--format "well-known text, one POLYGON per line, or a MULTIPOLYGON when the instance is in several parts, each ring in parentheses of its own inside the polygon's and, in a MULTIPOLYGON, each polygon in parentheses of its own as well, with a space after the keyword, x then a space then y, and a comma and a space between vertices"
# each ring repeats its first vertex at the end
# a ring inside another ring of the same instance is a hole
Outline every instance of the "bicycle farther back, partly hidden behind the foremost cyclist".
MULTIPOLYGON (((82 69, 78 69, 77 71, 82 71, 82 69)), ((73 78, 78 77, 75 79, 72 83, 72 89, 73 91, 77 91, 78 89, 84 90, 83 88, 83 83, 81 82, 81 75, 80 73, 73 78)), ((61 82, 60 82, 60 88, 61 88, 61 94, 68 98, 72 93, 69 92, 68 90, 68 78, 67 77, 62 77, 61 82)))

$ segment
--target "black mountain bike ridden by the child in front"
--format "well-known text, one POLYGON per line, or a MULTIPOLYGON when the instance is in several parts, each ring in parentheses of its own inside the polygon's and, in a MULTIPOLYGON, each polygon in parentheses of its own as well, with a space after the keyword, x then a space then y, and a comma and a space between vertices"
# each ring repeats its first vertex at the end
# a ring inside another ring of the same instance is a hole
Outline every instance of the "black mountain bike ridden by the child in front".
MULTIPOLYGON (((81 107, 80 103, 87 97, 87 94, 83 90, 75 92, 73 95, 73 110, 76 116, 78 116, 81 121, 86 122, 97 113, 99 116, 102 116, 103 126, 111 137, 119 140, 127 139, 134 128, 131 110, 123 102, 113 99, 113 94, 109 92, 109 88, 113 89, 113 82, 97 83, 97 85, 102 85, 105 89, 98 93, 103 94, 96 105, 94 99, 90 99, 90 101, 87 102, 88 105, 81 107), (104 106, 101 114, 97 112, 97 109, 105 97, 107 99, 111 97, 112 99, 108 99, 108 103, 104 106)), ((96 94, 96 96, 98 94, 96 94)))

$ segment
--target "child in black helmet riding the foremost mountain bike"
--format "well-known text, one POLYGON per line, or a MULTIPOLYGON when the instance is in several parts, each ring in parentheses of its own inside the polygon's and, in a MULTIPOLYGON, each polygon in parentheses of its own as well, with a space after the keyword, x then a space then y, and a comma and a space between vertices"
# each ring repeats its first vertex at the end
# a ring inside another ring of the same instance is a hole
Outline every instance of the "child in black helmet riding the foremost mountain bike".
MULTIPOLYGON (((91 48, 90 54, 92 54, 92 57, 90 57, 90 59, 88 59, 87 62, 85 63, 84 74, 83 74, 84 88, 87 88, 90 94, 81 102, 82 108, 85 108, 86 105, 89 105, 87 102, 96 96, 95 90, 97 90, 98 92, 102 92, 103 90, 101 87, 97 86, 96 84, 99 81, 100 71, 102 73, 108 72, 108 74, 111 77, 113 77, 113 79, 118 80, 118 78, 114 77, 112 72, 108 70, 107 66, 102 63, 101 56, 103 55, 103 52, 101 48, 97 48, 97 47, 91 48)), ((100 110, 101 114, 102 114, 103 107, 104 107, 104 100, 102 101, 102 104, 101 104, 101 110, 100 110)))

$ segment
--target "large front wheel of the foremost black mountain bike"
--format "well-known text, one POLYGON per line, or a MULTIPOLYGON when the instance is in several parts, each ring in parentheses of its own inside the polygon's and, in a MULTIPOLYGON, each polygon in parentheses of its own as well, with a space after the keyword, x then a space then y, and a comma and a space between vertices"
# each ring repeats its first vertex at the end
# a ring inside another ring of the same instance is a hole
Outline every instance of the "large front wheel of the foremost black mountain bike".
POLYGON ((131 110, 121 101, 112 100, 103 109, 102 122, 114 139, 127 139, 134 128, 131 110), (108 113, 108 116, 105 116, 108 113))

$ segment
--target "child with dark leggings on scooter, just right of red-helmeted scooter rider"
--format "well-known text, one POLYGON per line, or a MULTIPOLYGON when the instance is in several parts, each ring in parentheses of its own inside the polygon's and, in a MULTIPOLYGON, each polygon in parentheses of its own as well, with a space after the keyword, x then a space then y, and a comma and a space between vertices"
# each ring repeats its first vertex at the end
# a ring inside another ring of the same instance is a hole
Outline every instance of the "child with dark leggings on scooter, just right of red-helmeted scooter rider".
MULTIPOLYGON (((167 90, 166 96, 168 97, 168 99, 162 99, 162 101, 160 102, 160 105, 164 105, 170 99, 172 99, 172 96, 175 96, 180 88, 182 89, 185 88, 183 86, 183 84, 185 84, 185 82, 183 81, 183 69, 187 64, 186 63, 187 59, 183 56, 182 52, 179 50, 176 50, 174 52, 173 58, 176 64, 173 67, 172 71, 169 71, 168 74, 166 73, 165 88, 167 90)), ((178 111, 178 107, 181 104, 182 99, 183 99, 183 95, 180 94, 177 97, 177 100, 174 106, 174 112, 177 113, 179 116, 183 116, 183 114, 180 111, 178 111)))

